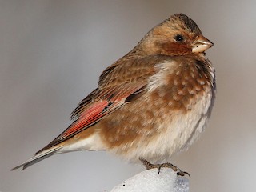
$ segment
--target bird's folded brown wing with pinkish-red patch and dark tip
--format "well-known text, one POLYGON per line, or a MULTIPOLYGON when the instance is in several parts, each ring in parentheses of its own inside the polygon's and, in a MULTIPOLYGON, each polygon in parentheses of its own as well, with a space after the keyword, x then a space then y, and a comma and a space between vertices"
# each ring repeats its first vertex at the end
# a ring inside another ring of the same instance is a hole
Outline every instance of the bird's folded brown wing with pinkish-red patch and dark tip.
POLYGON ((72 112, 71 119, 74 122, 36 154, 89 128, 114 110, 131 102, 135 98, 134 95, 142 94, 147 85, 147 78, 155 73, 154 62, 145 63, 146 60, 137 59, 114 64, 103 71, 98 88, 83 99, 72 112))

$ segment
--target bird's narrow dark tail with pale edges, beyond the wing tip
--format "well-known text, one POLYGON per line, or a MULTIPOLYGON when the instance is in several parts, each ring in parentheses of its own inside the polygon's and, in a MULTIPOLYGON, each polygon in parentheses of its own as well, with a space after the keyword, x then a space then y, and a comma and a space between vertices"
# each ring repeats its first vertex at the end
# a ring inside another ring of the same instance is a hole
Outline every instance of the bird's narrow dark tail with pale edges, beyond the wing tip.
POLYGON ((45 158, 49 158, 51 155, 55 154, 61 148, 62 146, 54 146, 48 150, 43 150, 41 153, 35 154, 33 158, 30 158, 29 160, 27 160, 26 162, 23 162, 19 166, 15 166, 11 170, 17 170, 20 167, 22 167, 22 170, 25 170, 27 167, 32 166, 34 163, 40 162, 45 158))

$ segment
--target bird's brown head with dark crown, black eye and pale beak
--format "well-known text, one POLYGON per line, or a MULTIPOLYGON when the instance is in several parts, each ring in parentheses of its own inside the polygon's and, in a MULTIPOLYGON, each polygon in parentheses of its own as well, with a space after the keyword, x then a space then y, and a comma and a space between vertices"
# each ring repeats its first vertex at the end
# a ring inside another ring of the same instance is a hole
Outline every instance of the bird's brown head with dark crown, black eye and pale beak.
POLYGON ((202 53, 214 44, 185 14, 174 14, 155 26, 138 44, 144 54, 186 55, 202 53))

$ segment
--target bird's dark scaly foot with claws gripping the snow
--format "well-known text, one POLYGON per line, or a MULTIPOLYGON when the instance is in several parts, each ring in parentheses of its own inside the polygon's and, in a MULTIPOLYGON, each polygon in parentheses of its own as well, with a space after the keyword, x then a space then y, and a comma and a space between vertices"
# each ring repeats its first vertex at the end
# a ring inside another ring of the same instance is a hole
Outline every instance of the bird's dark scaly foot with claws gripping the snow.
POLYGON ((160 173, 160 170, 161 170, 162 167, 167 167, 167 168, 171 168, 172 170, 177 172, 177 175, 185 176, 185 174, 187 174, 188 176, 190 176, 189 173, 180 170, 177 166, 174 166, 170 162, 165 162, 165 163, 162 163, 162 164, 152 164, 152 163, 146 161, 145 158, 138 158, 138 159, 143 163, 144 166, 146 166, 147 170, 157 168, 158 169, 158 174, 160 173))

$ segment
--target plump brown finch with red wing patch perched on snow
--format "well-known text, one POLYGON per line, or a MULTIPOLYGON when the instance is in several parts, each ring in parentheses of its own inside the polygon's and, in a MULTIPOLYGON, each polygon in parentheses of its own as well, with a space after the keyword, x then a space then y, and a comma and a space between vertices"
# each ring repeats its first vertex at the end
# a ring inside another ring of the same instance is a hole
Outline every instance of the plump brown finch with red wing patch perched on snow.
POLYGON ((157 163, 186 150, 214 105, 215 70, 205 53, 213 45, 186 14, 166 18, 103 70, 66 130, 12 170, 71 151, 106 150, 127 162, 157 163))

